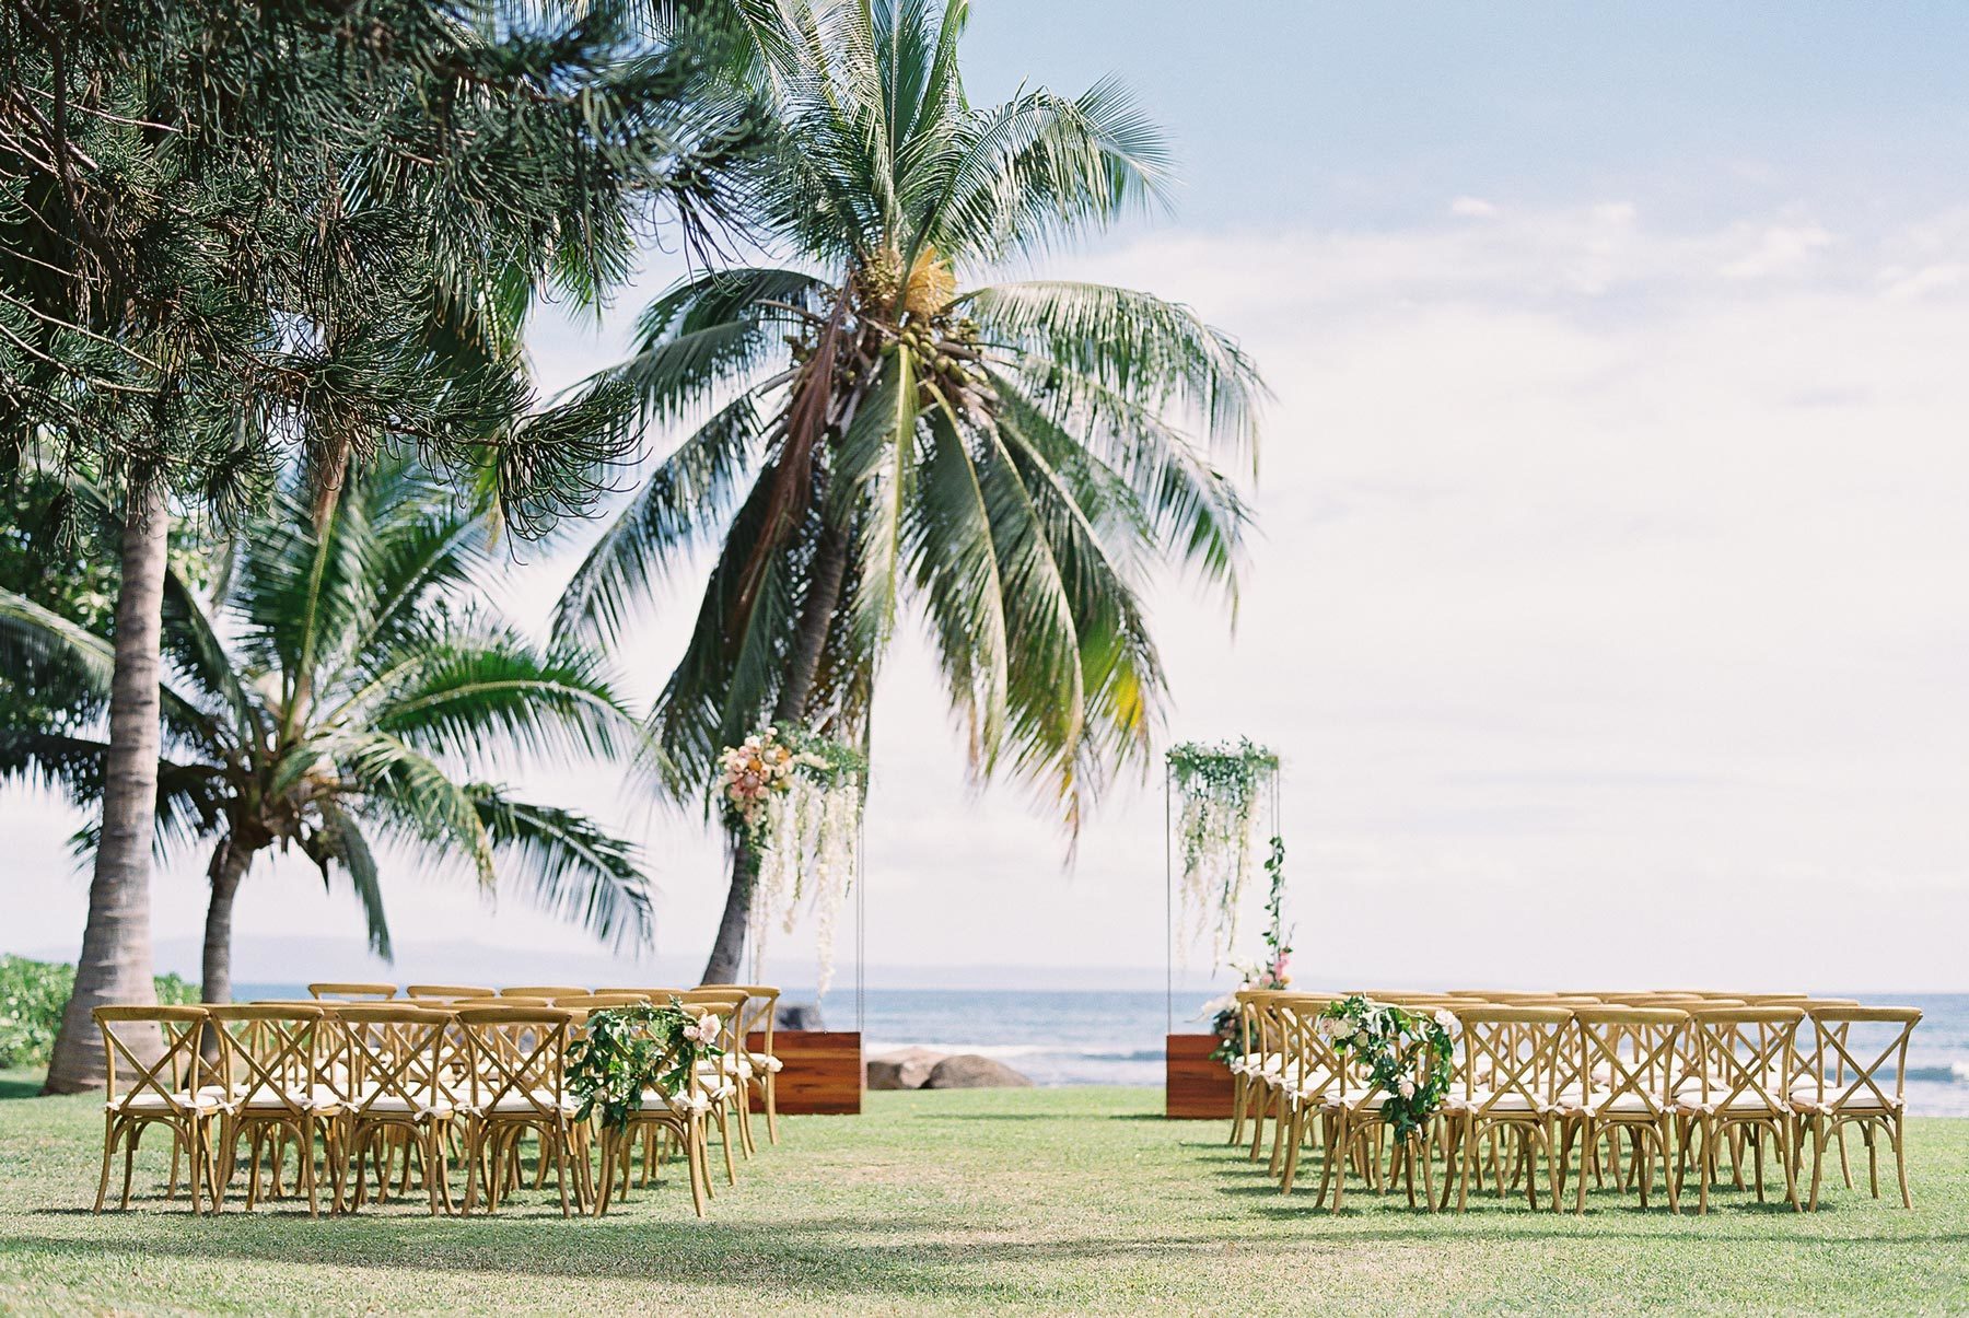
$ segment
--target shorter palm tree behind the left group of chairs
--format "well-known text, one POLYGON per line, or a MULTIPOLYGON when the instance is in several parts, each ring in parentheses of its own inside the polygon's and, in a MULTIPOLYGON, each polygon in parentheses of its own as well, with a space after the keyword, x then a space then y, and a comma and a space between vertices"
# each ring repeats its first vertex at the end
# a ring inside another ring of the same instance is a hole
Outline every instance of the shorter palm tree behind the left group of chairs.
MULTIPOLYGON (((644 741, 597 650, 534 646, 461 603, 461 583, 488 569, 490 536, 484 514, 398 463, 350 483, 321 532, 309 491, 291 483, 228 544, 211 601, 165 575, 156 827, 159 845, 211 847, 205 1001, 230 1001, 232 902, 272 847, 347 881, 384 957, 372 841, 463 865, 486 890, 518 881, 599 938, 650 942, 630 843, 478 776, 512 753, 616 758, 644 741)), ((102 806, 110 760, 95 725, 120 672, 112 642, 0 591, 0 672, 47 670, 89 697, 41 727, 0 729, 0 778, 102 806)), ((83 845, 110 825, 104 814, 83 845)))

